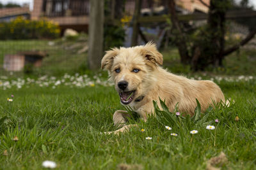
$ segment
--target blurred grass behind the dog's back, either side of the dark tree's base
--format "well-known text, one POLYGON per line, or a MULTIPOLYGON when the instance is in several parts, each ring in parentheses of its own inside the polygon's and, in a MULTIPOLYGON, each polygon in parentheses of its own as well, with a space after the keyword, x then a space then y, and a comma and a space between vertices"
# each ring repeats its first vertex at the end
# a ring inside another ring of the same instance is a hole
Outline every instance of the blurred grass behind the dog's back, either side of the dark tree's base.
MULTIPOLYGON (((189 66, 180 64, 180 57, 177 48, 173 47, 163 52, 164 66, 173 73, 191 74, 189 66)), ((252 48, 241 48, 231 53, 223 60, 223 67, 209 68, 204 73, 225 74, 225 75, 255 75, 256 50, 252 48)))

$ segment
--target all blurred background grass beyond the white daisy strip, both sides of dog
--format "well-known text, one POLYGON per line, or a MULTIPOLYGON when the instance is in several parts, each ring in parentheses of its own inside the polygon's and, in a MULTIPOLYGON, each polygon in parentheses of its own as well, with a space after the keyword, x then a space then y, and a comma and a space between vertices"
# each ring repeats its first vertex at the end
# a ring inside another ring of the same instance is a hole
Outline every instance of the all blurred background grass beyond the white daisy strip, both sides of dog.
MULTIPOLYGON (((51 74, 61 76, 64 73, 90 73, 86 65, 87 53, 78 53, 88 44, 87 36, 81 34, 77 39, 56 39, 50 40, 8 40, 0 41, 0 73, 8 74, 3 70, 3 59, 6 54, 15 54, 29 50, 40 50, 49 54, 42 62, 42 67, 34 69, 33 74, 51 74)), ((177 48, 170 47, 168 50, 161 50, 164 57, 164 67, 172 73, 191 74, 189 66, 180 64, 180 57, 177 48)), ((223 61, 224 67, 209 69, 207 74, 227 75, 255 75, 256 51, 252 48, 241 48, 241 50, 228 55, 223 61)), ((14 73, 22 76, 22 73, 14 73)))

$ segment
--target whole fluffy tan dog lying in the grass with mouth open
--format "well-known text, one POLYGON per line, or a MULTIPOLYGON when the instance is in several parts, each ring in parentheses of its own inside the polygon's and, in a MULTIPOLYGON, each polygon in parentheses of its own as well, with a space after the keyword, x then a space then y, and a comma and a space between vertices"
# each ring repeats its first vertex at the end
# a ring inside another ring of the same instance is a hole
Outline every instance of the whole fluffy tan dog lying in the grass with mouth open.
MULTIPOLYGON (((220 87, 208 80, 189 80, 184 76, 169 73, 161 67, 163 55, 154 43, 131 48, 113 48, 106 52, 101 61, 102 69, 108 70, 110 80, 115 82, 115 89, 124 106, 147 121, 154 113, 152 101, 164 100, 170 111, 179 103, 179 111, 193 115, 196 99, 205 111, 212 101, 225 101, 220 87)), ((161 106, 159 106, 161 107, 161 106)), ((124 125, 129 114, 127 111, 115 111, 115 125, 124 125)), ((132 125, 125 125, 116 132, 123 132, 132 125)))

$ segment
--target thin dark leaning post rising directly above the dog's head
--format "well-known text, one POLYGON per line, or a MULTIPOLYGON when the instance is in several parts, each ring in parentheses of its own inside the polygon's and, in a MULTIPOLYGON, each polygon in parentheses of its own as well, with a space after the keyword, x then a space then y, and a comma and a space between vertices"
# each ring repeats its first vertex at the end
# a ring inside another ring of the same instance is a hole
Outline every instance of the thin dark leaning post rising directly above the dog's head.
POLYGON ((140 9, 141 9, 141 0, 135 1, 135 9, 133 15, 133 22, 132 22, 132 41, 131 46, 138 45, 138 32, 139 32, 139 22, 138 19, 140 17, 140 9))

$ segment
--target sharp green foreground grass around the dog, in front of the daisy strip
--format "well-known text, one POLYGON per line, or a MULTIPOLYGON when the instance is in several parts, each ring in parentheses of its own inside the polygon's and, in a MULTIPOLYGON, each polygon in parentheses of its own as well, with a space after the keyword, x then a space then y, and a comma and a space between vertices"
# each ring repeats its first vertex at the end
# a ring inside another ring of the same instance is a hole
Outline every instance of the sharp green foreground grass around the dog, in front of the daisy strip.
POLYGON ((119 136, 99 133, 115 130, 112 115, 123 109, 113 87, 1 90, 0 118, 6 117, 0 125, 1 169, 42 169, 44 160, 56 162, 57 169, 116 169, 120 163, 143 169, 205 169, 207 160, 220 152, 228 159, 223 169, 256 169, 256 81, 220 81, 220 87, 236 103, 207 113, 207 121, 220 120, 212 122, 214 131, 191 121, 184 128, 164 122, 173 127, 168 131, 149 118, 119 136), (7 102, 11 94, 13 102, 7 102), (193 129, 198 134, 191 140, 193 129), (12 140, 15 136, 19 141, 12 140))

